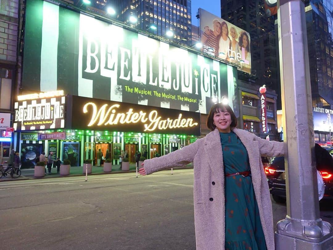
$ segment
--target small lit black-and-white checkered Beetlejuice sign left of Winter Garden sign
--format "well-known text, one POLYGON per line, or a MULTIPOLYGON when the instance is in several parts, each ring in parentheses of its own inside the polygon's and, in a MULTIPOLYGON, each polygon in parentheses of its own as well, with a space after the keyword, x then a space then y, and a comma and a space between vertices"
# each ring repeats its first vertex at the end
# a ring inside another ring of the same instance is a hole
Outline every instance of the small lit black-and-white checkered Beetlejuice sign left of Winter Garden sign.
POLYGON ((17 131, 65 127, 66 97, 15 102, 13 127, 17 131))

